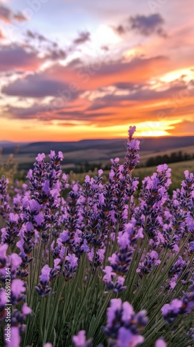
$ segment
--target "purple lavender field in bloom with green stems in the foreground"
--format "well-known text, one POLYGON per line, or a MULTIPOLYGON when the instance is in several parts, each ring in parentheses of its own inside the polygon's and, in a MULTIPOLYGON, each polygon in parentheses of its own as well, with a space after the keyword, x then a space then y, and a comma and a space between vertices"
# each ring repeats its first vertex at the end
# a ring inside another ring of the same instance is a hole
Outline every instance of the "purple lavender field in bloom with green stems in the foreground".
POLYGON ((83 184, 61 151, 0 177, 0 346, 194 346, 194 175, 140 180, 135 130, 83 184))

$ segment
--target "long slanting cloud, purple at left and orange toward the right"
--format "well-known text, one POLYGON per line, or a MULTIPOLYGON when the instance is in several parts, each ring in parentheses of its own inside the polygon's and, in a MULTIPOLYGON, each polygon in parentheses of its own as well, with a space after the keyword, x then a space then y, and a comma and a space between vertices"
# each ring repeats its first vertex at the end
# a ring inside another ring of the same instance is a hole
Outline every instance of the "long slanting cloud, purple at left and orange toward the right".
POLYGON ((74 60, 67 66, 55 64, 37 74, 19 78, 3 87, 2 92, 12 96, 39 98, 55 96, 59 89, 67 90, 69 93, 68 91, 71 92, 73 88, 71 94, 74 97, 76 92, 98 90, 100 87, 115 85, 121 81, 122 83, 129 83, 129 81, 130 83, 145 83, 152 76, 153 71, 157 71, 158 67, 162 69, 163 65, 166 65, 166 57, 161 56, 149 59, 134 58, 130 62, 106 63, 103 61, 97 65, 92 63, 91 65, 81 65, 80 60, 74 60), (72 83, 73 87, 71 87, 72 83))

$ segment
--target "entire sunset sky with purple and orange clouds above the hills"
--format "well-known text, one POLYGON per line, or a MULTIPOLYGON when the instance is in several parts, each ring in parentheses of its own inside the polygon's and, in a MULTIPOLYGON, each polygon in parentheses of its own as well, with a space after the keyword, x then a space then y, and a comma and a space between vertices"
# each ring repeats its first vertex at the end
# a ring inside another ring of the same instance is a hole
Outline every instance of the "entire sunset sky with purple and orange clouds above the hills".
POLYGON ((193 0, 0 0, 0 140, 194 135, 193 0))

